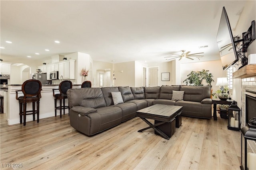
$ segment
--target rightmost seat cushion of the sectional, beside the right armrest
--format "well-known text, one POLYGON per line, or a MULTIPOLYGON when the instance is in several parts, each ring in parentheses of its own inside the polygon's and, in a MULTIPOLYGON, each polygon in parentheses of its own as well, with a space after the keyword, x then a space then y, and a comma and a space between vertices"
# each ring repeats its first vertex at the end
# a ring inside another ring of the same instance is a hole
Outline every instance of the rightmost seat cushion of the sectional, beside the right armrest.
POLYGON ((177 101, 175 106, 183 106, 182 115, 203 117, 202 104, 200 102, 177 101))

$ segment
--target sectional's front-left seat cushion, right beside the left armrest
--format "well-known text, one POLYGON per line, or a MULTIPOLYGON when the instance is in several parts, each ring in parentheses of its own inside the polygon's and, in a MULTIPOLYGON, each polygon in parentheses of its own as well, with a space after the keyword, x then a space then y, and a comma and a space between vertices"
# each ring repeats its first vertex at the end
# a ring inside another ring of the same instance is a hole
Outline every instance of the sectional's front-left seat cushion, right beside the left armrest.
POLYGON ((122 109, 120 109, 119 107, 99 107, 97 108, 97 112, 100 117, 98 117, 97 120, 94 120, 94 122, 98 121, 97 123, 100 125, 98 127, 98 132, 118 125, 122 121, 122 109))

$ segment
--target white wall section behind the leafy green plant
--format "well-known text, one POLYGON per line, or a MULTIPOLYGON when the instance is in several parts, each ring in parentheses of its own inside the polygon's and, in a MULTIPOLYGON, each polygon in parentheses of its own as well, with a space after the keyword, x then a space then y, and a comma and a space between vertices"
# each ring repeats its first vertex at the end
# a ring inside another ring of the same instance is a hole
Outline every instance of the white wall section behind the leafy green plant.
POLYGON ((209 72, 212 73, 213 80, 214 80, 214 82, 212 82, 212 92, 215 92, 216 90, 219 89, 219 86, 216 86, 217 78, 227 76, 226 70, 223 71, 222 69, 222 64, 220 60, 204 61, 204 62, 198 62, 198 63, 192 63, 192 64, 191 63, 180 64, 180 77, 181 77, 182 84, 186 84, 183 81, 187 78, 187 75, 191 71, 201 71, 202 69, 209 70, 209 72))

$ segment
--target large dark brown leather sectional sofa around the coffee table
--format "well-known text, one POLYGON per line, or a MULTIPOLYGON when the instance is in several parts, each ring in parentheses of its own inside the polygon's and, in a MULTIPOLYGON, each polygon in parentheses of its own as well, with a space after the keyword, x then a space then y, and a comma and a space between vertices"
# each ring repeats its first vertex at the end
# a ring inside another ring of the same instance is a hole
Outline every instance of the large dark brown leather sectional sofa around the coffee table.
POLYGON ((182 115, 212 118, 210 86, 73 88, 67 91, 70 125, 88 136, 136 116, 154 104, 183 106, 182 115), (184 101, 174 101, 172 90, 184 91, 184 101), (114 105, 111 92, 121 92, 124 103, 114 105))

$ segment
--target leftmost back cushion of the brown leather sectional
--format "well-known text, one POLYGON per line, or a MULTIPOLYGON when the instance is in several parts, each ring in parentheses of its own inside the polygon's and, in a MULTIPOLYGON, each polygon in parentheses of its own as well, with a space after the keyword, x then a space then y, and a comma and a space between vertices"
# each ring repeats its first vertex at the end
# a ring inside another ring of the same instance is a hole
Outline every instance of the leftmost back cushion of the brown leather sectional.
POLYGON ((68 104, 82 107, 104 107, 106 102, 100 88, 72 88, 67 91, 68 104))

